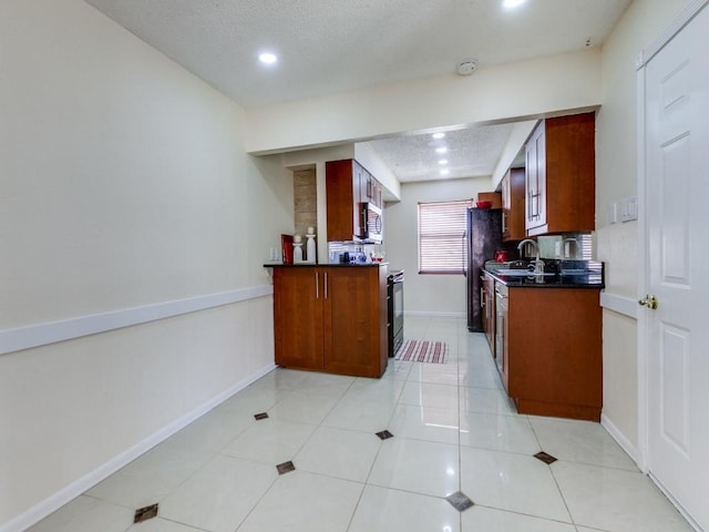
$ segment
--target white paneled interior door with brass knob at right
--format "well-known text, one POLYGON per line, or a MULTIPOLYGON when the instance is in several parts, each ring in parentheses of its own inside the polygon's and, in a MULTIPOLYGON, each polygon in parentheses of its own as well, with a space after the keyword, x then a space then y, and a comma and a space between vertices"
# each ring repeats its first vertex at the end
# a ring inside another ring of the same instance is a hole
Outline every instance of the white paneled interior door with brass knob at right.
POLYGON ((709 532, 709 8, 645 72, 648 468, 709 532))

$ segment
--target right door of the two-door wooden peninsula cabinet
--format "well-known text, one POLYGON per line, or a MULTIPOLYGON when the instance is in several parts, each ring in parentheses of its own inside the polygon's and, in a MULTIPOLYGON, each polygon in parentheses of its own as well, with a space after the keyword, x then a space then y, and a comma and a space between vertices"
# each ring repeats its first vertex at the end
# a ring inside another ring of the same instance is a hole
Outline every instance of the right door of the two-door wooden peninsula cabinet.
POLYGON ((325 370, 379 377, 379 268, 325 268, 323 316, 325 370))

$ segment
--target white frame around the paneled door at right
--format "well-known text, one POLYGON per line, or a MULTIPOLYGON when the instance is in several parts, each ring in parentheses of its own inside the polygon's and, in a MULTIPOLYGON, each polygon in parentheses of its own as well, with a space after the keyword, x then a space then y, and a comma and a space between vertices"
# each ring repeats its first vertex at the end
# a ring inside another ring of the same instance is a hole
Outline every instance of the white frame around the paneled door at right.
MULTIPOLYGON (((638 290, 639 297, 649 293, 649 232, 647 206, 647 168, 646 158, 646 66, 649 61, 669 43, 707 4, 709 0, 691 0, 687 2, 679 16, 660 33, 660 35, 636 58, 637 70, 637 170, 638 170, 638 290)), ((649 454, 649 354, 651 317, 649 313, 637 314, 637 366, 638 366, 638 468, 649 474, 657 487, 670 499, 680 513, 697 530, 700 530, 681 505, 669 494, 662 484, 650 473, 651 457, 649 454)))

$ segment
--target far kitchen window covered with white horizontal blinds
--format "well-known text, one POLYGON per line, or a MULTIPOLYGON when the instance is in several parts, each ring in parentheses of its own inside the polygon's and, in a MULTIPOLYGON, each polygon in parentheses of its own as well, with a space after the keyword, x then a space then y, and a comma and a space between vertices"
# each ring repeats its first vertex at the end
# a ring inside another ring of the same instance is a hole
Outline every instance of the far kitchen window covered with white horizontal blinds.
POLYGON ((462 274, 467 263, 465 228, 472 200, 419 204, 419 273, 462 274))

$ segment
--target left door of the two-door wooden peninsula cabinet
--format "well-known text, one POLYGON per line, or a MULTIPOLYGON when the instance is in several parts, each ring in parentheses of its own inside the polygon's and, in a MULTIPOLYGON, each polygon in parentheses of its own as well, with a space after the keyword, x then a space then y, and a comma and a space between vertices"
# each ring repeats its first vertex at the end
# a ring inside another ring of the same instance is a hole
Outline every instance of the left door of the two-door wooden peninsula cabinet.
POLYGON ((321 268, 274 268, 274 331, 276 364, 322 370, 321 268))

